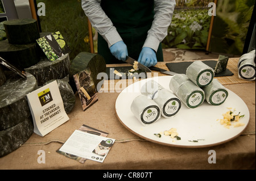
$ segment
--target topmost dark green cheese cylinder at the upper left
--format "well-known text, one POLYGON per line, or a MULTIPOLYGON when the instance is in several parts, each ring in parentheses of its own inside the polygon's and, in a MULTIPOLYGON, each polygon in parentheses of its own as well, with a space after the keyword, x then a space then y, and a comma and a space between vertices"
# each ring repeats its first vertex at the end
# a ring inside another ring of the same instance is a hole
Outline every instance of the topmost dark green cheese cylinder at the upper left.
POLYGON ((34 43, 40 38, 38 22, 35 19, 13 19, 3 22, 3 25, 11 44, 34 43))

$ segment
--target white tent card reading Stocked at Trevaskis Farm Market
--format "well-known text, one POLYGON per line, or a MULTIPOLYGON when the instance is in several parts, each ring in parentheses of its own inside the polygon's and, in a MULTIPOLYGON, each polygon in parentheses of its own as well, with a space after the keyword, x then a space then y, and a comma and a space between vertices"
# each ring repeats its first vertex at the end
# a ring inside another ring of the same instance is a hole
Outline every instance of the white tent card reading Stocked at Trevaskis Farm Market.
POLYGON ((69 120, 57 81, 48 83, 27 95, 34 121, 34 132, 45 136, 69 120))

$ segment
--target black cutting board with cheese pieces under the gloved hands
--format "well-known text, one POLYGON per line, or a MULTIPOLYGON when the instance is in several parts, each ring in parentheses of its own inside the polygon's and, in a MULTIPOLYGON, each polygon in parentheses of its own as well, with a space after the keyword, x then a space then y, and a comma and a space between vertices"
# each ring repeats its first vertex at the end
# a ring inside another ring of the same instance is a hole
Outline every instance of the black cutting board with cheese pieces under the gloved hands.
POLYGON ((113 79, 130 79, 130 78, 133 78, 133 77, 136 77, 136 78, 147 78, 147 74, 145 71, 142 71, 142 70, 138 70, 137 71, 137 74, 134 74, 133 76, 129 76, 129 70, 133 69, 133 66, 117 66, 117 67, 109 67, 109 68, 106 68, 106 74, 108 75, 108 79, 109 80, 113 80, 113 79), (114 74, 114 70, 117 70, 119 73, 122 74, 122 77, 119 77, 118 75, 115 75, 114 74))

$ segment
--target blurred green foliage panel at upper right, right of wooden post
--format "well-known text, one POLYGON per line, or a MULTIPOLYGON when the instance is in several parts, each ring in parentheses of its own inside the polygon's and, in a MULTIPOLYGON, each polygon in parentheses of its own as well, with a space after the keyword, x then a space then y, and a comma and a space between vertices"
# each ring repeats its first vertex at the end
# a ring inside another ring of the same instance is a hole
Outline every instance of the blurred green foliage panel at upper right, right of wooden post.
POLYGON ((210 51, 241 55, 255 0, 218 0, 210 51))

